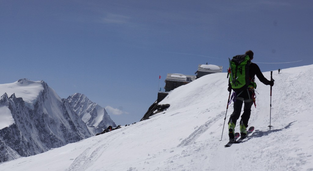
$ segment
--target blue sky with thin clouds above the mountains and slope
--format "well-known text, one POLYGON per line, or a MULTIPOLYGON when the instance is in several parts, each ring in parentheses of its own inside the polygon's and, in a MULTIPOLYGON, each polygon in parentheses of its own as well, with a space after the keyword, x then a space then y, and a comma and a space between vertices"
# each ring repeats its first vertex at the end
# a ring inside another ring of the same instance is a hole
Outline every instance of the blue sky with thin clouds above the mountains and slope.
POLYGON ((313 64, 312 8, 309 0, 0 0, 0 83, 44 80, 61 98, 83 93, 116 124, 131 124, 156 100, 159 75, 164 87, 167 73, 194 75, 198 64, 226 72, 228 58, 249 49, 262 72, 313 64))

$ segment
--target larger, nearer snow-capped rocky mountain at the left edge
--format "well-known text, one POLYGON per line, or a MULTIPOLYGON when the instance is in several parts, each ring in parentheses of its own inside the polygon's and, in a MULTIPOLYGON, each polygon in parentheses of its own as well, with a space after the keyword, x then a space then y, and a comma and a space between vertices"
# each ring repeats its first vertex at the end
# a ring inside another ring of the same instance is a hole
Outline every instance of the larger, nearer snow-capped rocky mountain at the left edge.
POLYGON ((95 130, 90 131, 68 100, 61 99, 44 81, 20 79, 1 84, 0 93, 0 117, 8 117, 5 111, 11 115, 11 121, 3 121, 0 127, 0 162, 43 153, 94 135, 95 130), (13 94, 8 97, 7 92, 13 94))

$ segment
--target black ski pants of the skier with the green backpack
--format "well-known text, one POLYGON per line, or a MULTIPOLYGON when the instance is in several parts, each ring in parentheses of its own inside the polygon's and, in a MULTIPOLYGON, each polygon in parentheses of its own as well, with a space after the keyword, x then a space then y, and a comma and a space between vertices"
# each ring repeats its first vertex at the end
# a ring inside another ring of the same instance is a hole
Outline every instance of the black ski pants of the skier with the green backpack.
MULTIPOLYGON (((239 94, 238 92, 237 94, 239 94)), ((244 113, 241 115, 241 120, 240 123, 244 123, 245 127, 248 127, 248 121, 250 119, 250 114, 251 114, 251 106, 253 104, 253 99, 251 98, 252 91, 250 90, 244 90, 241 92, 237 98, 236 101, 233 103, 233 113, 230 115, 229 121, 232 121, 235 125, 237 120, 240 117, 242 105, 244 103, 244 113)))

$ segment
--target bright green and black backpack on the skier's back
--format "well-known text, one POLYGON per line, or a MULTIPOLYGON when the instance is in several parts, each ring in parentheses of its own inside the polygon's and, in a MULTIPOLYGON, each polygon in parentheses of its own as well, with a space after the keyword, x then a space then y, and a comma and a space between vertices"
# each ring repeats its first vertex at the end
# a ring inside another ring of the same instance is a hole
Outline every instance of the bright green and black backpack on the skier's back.
POLYGON ((236 55, 232 60, 229 59, 229 82, 233 91, 239 92, 248 88, 250 63, 248 55, 236 55))

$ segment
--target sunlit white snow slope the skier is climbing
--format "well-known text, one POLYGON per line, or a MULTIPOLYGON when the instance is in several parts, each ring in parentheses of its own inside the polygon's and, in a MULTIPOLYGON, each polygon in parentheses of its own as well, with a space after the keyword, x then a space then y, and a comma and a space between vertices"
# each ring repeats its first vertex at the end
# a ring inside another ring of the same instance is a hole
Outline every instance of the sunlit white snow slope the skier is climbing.
MULTIPOLYGON (((313 80, 307 72, 312 69, 309 65, 273 72, 272 130, 268 128, 270 87, 257 79, 257 108, 252 108, 249 120, 256 130, 229 148, 224 148, 226 128, 219 141, 227 78, 226 73, 215 73, 170 92, 160 104, 171 107, 151 119, 2 163, 0 171, 312 171, 313 80)), ((270 72, 264 76, 269 79, 270 72)), ((232 107, 233 103, 226 120, 232 107)))

